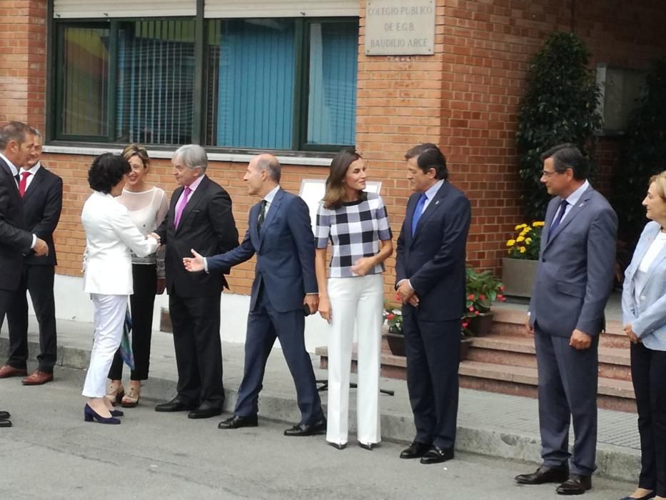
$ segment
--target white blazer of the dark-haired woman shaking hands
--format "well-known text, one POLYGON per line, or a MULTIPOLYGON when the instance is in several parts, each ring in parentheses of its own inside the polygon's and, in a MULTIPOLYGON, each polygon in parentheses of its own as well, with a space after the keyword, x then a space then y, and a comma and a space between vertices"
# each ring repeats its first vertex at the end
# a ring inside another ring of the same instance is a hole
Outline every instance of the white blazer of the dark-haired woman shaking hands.
POLYGON ((111 194, 99 191, 94 191, 86 200, 81 222, 86 230, 84 291, 104 295, 133 294, 130 250, 145 257, 157 250, 157 240, 143 236, 126 207, 111 194))

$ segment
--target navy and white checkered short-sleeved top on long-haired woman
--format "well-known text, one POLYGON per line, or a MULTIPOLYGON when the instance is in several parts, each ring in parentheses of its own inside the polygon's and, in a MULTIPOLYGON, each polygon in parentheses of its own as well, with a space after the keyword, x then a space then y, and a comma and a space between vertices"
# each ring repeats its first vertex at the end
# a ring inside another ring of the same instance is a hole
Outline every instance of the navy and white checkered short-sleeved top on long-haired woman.
MULTIPOLYGON (((391 239, 388 214, 381 197, 367 193, 367 198, 352 201, 339 209, 325 209, 323 202, 317 210, 315 242, 318 249, 325 249, 331 240, 330 278, 358 276, 351 270, 361 257, 378 253, 379 242, 391 239)), ((377 264, 368 274, 380 274, 384 264, 377 264)))

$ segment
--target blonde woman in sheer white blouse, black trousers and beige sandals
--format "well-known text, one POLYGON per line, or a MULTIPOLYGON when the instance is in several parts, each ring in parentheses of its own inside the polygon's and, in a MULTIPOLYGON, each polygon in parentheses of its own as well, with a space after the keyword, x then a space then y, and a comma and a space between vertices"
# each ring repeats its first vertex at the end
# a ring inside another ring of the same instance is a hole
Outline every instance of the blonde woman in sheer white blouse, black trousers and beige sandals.
MULTIPOLYGON (((150 158, 148 151, 138 144, 127 146, 121 156, 131 166, 123 192, 117 200, 127 207, 129 216, 143 236, 148 236, 162 223, 168 203, 163 189, 146 181, 150 158)), ((132 317, 132 354, 134 368, 130 374, 129 391, 123 388, 123 359, 120 349, 113 358, 109 370, 109 389, 106 397, 115 406, 125 408, 138 404, 141 397, 141 382, 148 379, 151 358, 151 333, 153 330, 153 306, 156 294, 164 291, 163 251, 147 256, 132 254, 132 279, 134 293, 130 296, 132 317)))

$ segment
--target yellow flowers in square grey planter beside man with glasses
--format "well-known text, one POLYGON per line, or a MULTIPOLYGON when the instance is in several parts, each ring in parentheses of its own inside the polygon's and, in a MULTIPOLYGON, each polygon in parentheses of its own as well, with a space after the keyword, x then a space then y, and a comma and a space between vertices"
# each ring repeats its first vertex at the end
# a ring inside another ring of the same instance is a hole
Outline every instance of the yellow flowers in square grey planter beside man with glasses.
POLYGON ((508 256, 502 259, 502 281, 506 295, 531 296, 543 225, 543 221, 518 224, 515 226, 515 234, 506 242, 508 256))

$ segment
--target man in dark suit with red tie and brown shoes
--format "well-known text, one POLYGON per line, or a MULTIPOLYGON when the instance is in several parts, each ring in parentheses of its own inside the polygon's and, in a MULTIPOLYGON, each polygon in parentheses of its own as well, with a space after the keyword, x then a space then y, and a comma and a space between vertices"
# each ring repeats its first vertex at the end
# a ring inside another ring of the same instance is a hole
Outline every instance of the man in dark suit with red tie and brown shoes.
POLYGON ((25 228, 49 245, 49 255, 28 254, 23 260, 23 276, 11 309, 7 312, 9 324, 8 365, 24 371, 28 359, 28 299, 30 298, 39 324, 39 366, 23 379, 26 386, 46 384, 53 380, 56 364, 56 306, 54 302, 54 276, 56 249, 53 234, 62 211, 62 179, 44 168, 41 156, 41 134, 35 136, 33 154, 28 164, 19 171, 19 194, 23 201, 25 228))

